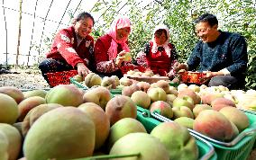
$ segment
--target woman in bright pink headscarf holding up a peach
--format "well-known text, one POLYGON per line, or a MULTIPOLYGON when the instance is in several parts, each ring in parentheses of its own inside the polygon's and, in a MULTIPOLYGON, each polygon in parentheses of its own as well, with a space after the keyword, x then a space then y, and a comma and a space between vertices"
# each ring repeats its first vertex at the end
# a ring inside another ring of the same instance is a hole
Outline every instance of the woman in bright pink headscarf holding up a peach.
POLYGON ((128 36, 131 22, 126 17, 117 18, 104 36, 95 44, 96 71, 105 76, 122 76, 120 67, 124 65, 124 55, 130 52, 128 36))

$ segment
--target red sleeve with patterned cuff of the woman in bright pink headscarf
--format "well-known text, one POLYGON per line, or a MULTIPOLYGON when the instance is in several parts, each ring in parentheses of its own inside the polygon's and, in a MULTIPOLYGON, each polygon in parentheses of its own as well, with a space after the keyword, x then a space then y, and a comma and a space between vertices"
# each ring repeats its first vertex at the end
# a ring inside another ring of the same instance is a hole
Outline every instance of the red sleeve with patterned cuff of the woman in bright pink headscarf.
POLYGON ((96 70, 101 73, 111 73, 119 69, 114 65, 114 60, 109 60, 108 49, 105 48, 105 44, 102 40, 96 40, 95 44, 95 61, 96 70))

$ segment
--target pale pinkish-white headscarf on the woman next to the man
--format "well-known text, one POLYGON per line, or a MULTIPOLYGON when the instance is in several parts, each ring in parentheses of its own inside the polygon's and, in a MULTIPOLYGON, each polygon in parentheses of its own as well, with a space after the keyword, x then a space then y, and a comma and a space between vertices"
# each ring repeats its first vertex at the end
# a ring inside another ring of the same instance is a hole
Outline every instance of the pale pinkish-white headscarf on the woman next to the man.
POLYGON ((153 46, 152 46, 152 49, 151 49, 152 53, 156 53, 158 51, 159 47, 163 47, 165 49, 166 53, 168 55, 170 54, 170 49, 169 49, 169 46, 168 46, 168 43, 169 43, 169 29, 166 25, 160 24, 160 25, 156 26, 156 28, 154 29, 151 41, 153 42, 153 46), (155 41, 155 32, 160 30, 160 29, 163 29, 167 32, 167 40, 162 45, 158 45, 155 41))

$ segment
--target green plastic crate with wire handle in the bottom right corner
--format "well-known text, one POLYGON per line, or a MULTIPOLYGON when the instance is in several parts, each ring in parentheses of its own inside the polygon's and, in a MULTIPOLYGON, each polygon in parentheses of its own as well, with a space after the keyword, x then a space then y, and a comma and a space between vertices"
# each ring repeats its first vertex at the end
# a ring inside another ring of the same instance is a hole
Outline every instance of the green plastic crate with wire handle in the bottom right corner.
MULTIPOLYGON (((218 160, 246 160, 250 156, 251 149, 256 139, 256 115, 245 112, 250 121, 250 126, 244 129, 231 142, 222 142, 209 138, 193 129, 188 129, 189 132, 196 134, 200 138, 206 139, 215 147, 218 160)), ((157 111, 153 112, 152 117, 160 121, 172 121, 161 116, 157 111)))

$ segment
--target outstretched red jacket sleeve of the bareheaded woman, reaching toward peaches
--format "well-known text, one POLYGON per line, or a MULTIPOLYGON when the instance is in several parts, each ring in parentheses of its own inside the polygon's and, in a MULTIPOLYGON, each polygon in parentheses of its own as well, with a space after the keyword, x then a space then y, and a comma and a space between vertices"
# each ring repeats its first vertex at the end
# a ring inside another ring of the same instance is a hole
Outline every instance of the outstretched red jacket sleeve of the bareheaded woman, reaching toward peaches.
POLYGON ((79 58, 77 51, 74 49, 73 40, 73 35, 64 30, 59 31, 55 38, 59 54, 66 59, 69 65, 76 67, 78 63, 84 63, 84 60, 79 58))

